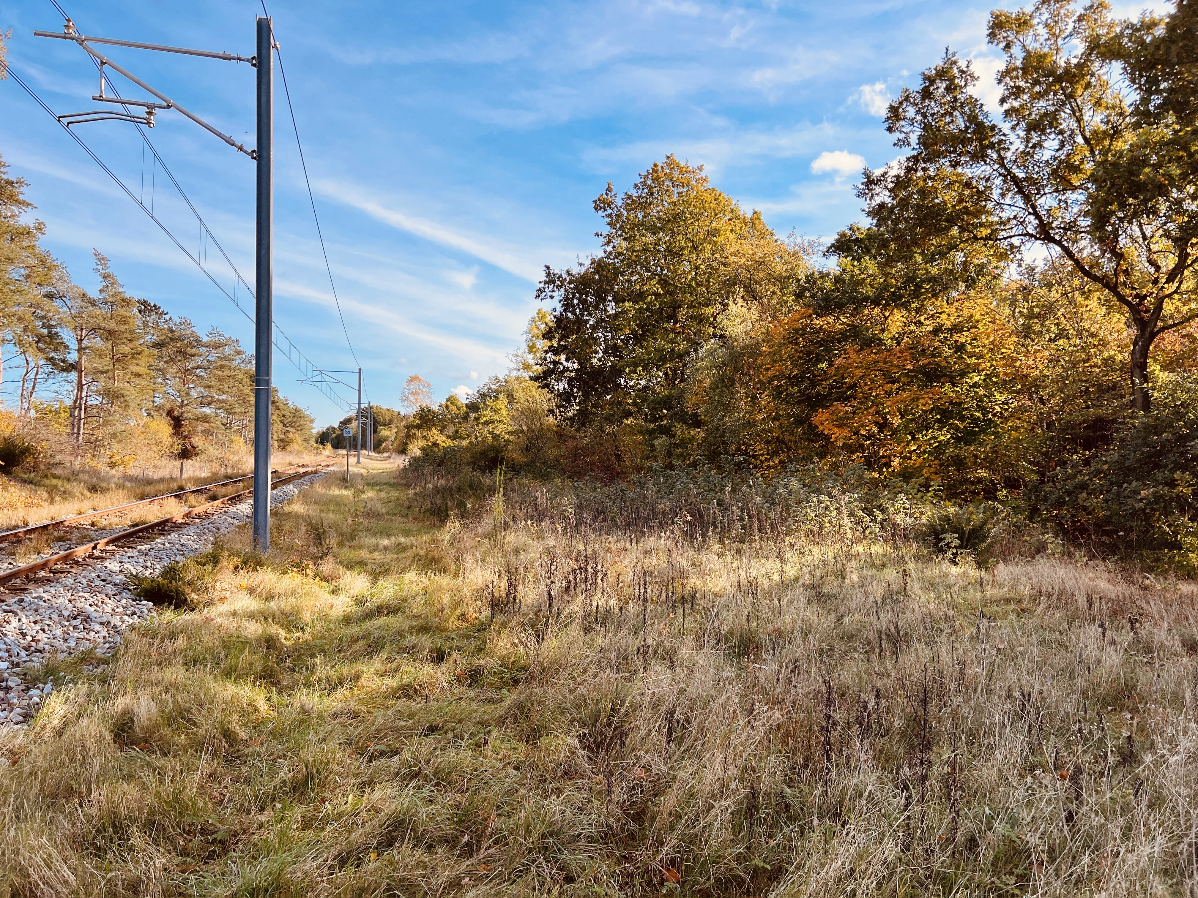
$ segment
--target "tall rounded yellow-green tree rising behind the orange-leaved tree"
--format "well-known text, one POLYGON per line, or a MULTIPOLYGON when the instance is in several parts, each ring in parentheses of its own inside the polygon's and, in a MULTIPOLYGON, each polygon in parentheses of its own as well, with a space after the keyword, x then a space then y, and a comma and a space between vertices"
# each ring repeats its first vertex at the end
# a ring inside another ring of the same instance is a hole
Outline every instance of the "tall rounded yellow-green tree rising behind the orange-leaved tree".
POLYGON ((696 360, 742 303, 778 315, 792 304, 801 254, 712 187, 702 166, 673 156, 630 190, 594 201, 600 251, 577 269, 546 268, 538 299, 536 378, 558 414, 581 426, 634 420, 658 439, 697 425, 688 402, 696 360))

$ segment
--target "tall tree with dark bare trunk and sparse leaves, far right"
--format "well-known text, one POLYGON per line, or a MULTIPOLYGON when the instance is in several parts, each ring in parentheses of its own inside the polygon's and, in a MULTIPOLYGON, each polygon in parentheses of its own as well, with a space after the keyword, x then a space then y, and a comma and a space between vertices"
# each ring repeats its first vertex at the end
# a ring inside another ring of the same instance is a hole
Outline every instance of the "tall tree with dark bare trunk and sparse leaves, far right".
POLYGON ((1111 17, 1101 0, 1039 0, 991 14, 1003 53, 996 117, 952 53, 887 115, 910 153, 867 171, 877 227, 928 250, 1037 245, 1127 316, 1132 406, 1150 408, 1154 342, 1198 316, 1193 150, 1194 4, 1111 17))

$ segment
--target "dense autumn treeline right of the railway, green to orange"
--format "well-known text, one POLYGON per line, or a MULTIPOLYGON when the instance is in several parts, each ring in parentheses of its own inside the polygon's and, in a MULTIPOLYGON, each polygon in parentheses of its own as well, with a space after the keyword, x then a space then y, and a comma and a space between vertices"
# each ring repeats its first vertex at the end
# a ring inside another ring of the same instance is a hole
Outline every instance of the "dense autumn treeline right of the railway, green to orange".
POLYGON ((621 479, 855 472, 1193 565, 1198 16, 994 12, 1000 110, 948 53, 887 116, 867 222, 779 238, 673 157, 594 202, 513 371, 407 421, 425 463, 621 479))

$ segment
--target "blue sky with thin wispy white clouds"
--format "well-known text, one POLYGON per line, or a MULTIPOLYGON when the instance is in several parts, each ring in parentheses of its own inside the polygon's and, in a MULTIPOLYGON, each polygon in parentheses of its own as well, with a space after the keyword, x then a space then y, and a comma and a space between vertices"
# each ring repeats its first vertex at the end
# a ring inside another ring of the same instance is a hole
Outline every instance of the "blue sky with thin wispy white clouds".
MULTIPOLYGON (((250 55, 249 0, 63 0, 83 34, 250 55)), ((860 216, 863 163, 897 151, 888 98, 952 47, 985 75, 990 4, 841 2, 276 2, 300 135, 345 321, 373 401, 394 406, 418 374, 436 394, 507 369, 536 309, 544 266, 592 253, 591 201, 627 189, 667 153, 780 235, 827 237, 860 216)), ((1135 14, 1144 4, 1119 4, 1135 14)), ((0 7, 10 62, 55 113, 95 108, 95 68, 63 41, 49 0, 0 7)), ((248 66, 103 50, 159 91, 253 146, 248 66)), ((125 96, 140 96, 117 78, 125 96)), ((356 368, 337 317, 282 83, 277 96, 276 318, 319 365, 356 368)), ((80 136, 184 244, 199 226, 132 126, 80 136)), ((151 132, 167 164, 253 283, 254 166, 175 113, 151 132)), ((46 245, 85 287, 99 249, 127 290, 252 346, 252 326, 12 80, 0 83, 0 154, 30 182, 46 245)), ((231 286, 232 275, 210 271, 231 286)), ((340 411, 276 383, 321 424, 340 411)))

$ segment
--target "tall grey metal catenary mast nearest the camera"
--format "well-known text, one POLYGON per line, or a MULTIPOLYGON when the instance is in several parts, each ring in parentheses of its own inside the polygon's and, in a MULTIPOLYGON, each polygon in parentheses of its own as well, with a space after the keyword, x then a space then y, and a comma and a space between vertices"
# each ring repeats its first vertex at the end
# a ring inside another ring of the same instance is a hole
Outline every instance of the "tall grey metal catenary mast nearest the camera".
POLYGON ((254 281, 254 546, 271 547, 271 350, 274 321, 274 79, 271 20, 258 19, 258 229, 254 281))

